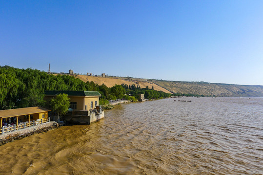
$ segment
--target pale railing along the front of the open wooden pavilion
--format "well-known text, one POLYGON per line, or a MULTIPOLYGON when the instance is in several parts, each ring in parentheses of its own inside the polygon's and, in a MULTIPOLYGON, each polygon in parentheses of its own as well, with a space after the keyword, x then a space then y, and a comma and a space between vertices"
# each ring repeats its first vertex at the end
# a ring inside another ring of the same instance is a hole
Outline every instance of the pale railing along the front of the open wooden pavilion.
POLYGON ((50 118, 38 119, 37 121, 33 120, 33 122, 19 123, 18 125, 14 124, 12 126, 2 126, 2 128, 0 129, 0 134, 4 134, 7 132, 14 132, 14 131, 17 131, 19 129, 25 129, 26 127, 36 126, 36 125, 47 123, 47 122, 50 122, 50 118))

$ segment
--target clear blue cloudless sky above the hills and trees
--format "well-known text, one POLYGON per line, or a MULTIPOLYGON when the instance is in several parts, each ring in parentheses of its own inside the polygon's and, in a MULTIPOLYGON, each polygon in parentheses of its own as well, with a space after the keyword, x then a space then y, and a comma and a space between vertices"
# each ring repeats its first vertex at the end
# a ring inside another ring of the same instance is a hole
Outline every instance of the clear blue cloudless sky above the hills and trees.
POLYGON ((0 66, 263 85, 263 0, 1 0, 0 66))

